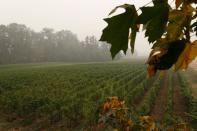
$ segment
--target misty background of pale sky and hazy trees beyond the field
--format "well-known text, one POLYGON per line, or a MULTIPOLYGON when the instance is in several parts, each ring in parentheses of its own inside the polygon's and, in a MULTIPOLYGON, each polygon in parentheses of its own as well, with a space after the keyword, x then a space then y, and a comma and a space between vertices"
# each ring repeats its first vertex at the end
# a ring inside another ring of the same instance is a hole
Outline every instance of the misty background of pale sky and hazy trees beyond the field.
MULTIPOLYGON (((102 19, 115 6, 129 3, 138 8, 148 2, 0 0, 0 63, 111 60, 109 45, 98 41, 107 26, 102 19)), ((149 51, 147 39, 139 33, 136 54, 147 56, 149 51)))

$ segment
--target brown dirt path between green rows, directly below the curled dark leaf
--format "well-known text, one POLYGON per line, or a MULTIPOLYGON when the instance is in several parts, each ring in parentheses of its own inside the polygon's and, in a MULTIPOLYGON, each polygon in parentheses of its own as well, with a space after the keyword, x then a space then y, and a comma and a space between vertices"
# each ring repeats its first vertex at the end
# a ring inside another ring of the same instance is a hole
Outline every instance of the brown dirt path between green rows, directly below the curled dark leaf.
POLYGON ((155 104, 150 114, 157 121, 161 121, 164 117, 166 103, 167 103, 167 92, 168 92, 168 75, 166 72, 161 82, 161 89, 157 95, 155 104))

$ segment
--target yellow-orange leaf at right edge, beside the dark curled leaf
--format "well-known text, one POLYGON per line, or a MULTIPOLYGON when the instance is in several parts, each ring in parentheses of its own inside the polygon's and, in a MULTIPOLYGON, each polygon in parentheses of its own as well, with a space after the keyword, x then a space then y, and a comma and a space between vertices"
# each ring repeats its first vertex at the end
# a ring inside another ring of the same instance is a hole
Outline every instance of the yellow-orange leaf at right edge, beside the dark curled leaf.
POLYGON ((175 64, 175 70, 187 69, 188 65, 196 58, 196 56, 197 40, 192 43, 187 43, 184 51, 181 53, 175 64))

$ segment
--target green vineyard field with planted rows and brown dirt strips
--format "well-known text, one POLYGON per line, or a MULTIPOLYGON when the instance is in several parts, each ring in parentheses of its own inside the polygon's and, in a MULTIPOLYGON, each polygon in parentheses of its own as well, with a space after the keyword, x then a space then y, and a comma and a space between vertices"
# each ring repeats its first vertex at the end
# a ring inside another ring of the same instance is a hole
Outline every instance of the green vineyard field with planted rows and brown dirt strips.
MULTIPOLYGON (((171 124, 197 122, 190 72, 147 78, 144 61, 0 66, 0 130, 83 130, 108 97, 171 124)), ((196 128, 195 126, 193 128, 196 128)))

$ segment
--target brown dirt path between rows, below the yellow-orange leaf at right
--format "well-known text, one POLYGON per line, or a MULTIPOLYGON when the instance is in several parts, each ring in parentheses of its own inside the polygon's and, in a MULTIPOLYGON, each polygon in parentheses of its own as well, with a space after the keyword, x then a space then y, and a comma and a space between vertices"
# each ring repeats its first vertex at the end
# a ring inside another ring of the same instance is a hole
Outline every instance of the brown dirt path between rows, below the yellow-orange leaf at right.
POLYGON ((185 122, 189 122, 189 118, 186 116, 187 106, 186 102, 181 95, 180 85, 177 78, 177 74, 173 75, 173 115, 181 117, 185 122))

